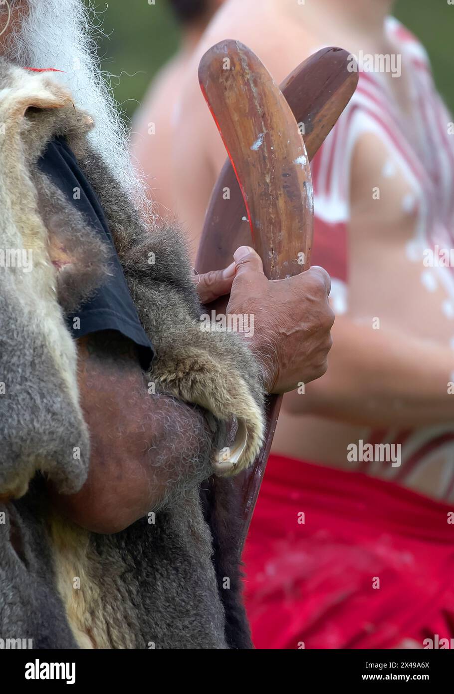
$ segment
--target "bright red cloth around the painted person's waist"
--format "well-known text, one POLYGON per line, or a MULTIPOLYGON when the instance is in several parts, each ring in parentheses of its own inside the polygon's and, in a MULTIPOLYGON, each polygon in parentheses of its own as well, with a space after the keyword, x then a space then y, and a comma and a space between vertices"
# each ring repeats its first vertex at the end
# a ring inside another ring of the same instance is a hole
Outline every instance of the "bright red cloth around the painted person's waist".
POLYGON ((256 648, 454 636, 453 511, 363 473, 270 456, 243 556, 256 648))

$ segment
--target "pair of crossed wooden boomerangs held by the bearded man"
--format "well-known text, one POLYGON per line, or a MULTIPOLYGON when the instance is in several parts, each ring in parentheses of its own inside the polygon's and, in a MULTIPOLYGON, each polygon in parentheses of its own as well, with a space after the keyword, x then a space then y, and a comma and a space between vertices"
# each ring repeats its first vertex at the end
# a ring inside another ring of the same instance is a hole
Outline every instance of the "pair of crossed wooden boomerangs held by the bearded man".
MULTIPOLYGON (((281 279, 307 269, 313 235, 309 161, 356 89, 358 74, 349 71, 348 60, 347 51, 322 49, 286 78, 281 91, 240 42, 222 41, 202 57, 200 86, 229 160, 207 209, 196 262, 200 273, 225 267, 236 248, 251 245, 251 239, 268 278, 281 279)), ((225 313, 227 301, 222 298, 210 309, 225 313)), ((243 490, 241 546, 280 405, 281 396, 268 398, 265 446, 254 466, 236 480, 243 490)))

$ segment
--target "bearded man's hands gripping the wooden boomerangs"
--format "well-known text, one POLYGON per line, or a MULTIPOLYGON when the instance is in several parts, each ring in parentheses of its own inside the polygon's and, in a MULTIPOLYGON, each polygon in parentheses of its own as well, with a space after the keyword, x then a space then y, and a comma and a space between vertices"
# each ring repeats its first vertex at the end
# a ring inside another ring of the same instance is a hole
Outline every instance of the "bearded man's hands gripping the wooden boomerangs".
POLYGON ((334 322, 328 273, 313 267, 272 282, 252 248, 238 248, 234 258, 235 264, 226 270, 200 276, 202 301, 231 291, 227 313, 254 316, 254 335, 245 339, 263 366, 269 393, 286 393, 320 378, 326 371, 334 322))

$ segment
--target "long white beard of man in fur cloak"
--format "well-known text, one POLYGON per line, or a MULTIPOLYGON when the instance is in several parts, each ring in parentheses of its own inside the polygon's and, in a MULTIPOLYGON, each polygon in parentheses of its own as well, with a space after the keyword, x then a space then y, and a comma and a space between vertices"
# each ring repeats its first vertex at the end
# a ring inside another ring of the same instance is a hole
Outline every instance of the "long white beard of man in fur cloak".
MULTIPOLYGON (((9 0, 10 6, 15 0, 9 0)), ((92 10, 82 0, 26 0, 24 15, 15 22, 6 40, 6 57, 22 67, 55 67, 76 105, 94 118, 91 141, 112 172, 143 212, 150 214, 143 183, 137 177, 128 151, 128 131, 103 77, 94 34, 102 31, 91 22, 92 10)))

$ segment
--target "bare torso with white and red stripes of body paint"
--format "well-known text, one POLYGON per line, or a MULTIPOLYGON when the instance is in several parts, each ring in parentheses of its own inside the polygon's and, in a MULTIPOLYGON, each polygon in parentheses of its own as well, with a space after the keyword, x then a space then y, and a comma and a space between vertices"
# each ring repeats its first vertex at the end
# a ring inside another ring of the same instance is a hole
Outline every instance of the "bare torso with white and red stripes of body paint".
MULTIPOLYGON (((410 114, 396 106, 390 76, 360 73, 356 94, 313 162, 321 239, 313 260, 333 276, 336 314, 451 347, 448 389, 454 381, 454 267, 441 265, 442 250, 454 248, 453 117, 435 91, 424 49, 394 19, 388 29, 409 78, 410 114), (430 266, 437 246, 439 266, 430 266)), ((374 430, 309 417, 294 439, 283 421, 274 447, 454 498, 454 400, 452 426, 374 430), (284 444, 288 437, 293 443, 284 444), (360 439, 401 443, 401 466, 340 456, 360 439)))

